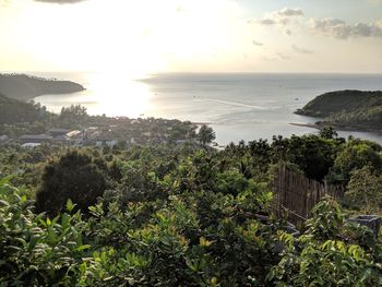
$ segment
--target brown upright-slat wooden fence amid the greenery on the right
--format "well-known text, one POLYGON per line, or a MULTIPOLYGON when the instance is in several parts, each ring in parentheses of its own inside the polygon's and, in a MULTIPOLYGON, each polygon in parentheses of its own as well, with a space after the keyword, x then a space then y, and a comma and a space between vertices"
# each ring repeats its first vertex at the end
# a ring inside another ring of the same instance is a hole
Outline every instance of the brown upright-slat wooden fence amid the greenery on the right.
POLYGON ((294 224, 308 219, 313 206, 324 195, 338 200, 343 194, 343 187, 309 179, 289 170, 285 165, 280 165, 275 175, 274 208, 279 216, 286 214, 294 224))

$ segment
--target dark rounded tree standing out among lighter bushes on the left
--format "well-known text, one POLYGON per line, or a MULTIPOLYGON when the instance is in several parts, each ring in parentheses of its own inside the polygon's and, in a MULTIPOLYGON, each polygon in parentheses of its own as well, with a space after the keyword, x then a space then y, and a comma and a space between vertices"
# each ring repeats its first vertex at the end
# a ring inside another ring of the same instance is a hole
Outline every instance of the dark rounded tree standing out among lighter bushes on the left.
POLYGON ((71 199, 86 212, 108 187, 105 172, 98 166, 93 157, 77 151, 51 160, 45 167, 36 194, 37 211, 57 214, 71 199))

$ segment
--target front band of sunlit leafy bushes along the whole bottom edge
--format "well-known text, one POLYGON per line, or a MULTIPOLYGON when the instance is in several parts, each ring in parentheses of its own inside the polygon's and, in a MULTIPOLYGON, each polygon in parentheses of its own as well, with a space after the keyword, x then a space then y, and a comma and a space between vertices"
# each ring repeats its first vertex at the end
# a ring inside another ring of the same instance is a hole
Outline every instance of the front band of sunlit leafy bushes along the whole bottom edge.
POLYGON ((381 242, 370 229, 344 224, 332 202, 317 206, 295 239, 282 222, 248 214, 267 205, 259 190, 178 194, 124 211, 102 200, 86 218, 72 213, 71 201, 57 217, 37 215, 21 193, 0 184, 2 286, 382 284, 381 242))

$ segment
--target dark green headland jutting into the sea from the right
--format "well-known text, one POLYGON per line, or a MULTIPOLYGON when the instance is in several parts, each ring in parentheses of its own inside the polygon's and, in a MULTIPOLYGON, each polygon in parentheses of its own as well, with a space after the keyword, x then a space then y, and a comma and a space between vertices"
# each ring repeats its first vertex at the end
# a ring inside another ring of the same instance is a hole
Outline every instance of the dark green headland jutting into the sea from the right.
POLYGON ((382 91, 337 91, 309 101, 298 115, 323 118, 320 124, 382 131, 382 91))

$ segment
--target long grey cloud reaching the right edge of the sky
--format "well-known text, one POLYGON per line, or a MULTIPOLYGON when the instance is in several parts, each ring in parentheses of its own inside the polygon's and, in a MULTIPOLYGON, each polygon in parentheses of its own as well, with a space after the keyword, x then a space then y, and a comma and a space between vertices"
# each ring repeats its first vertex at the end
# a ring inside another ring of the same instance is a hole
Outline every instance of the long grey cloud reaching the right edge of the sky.
POLYGON ((314 32, 339 39, 382 36, 382 21, 375 23, 356 23, 354 25, 347 24, 341 19, 312 19, 310 22, 314 32))

